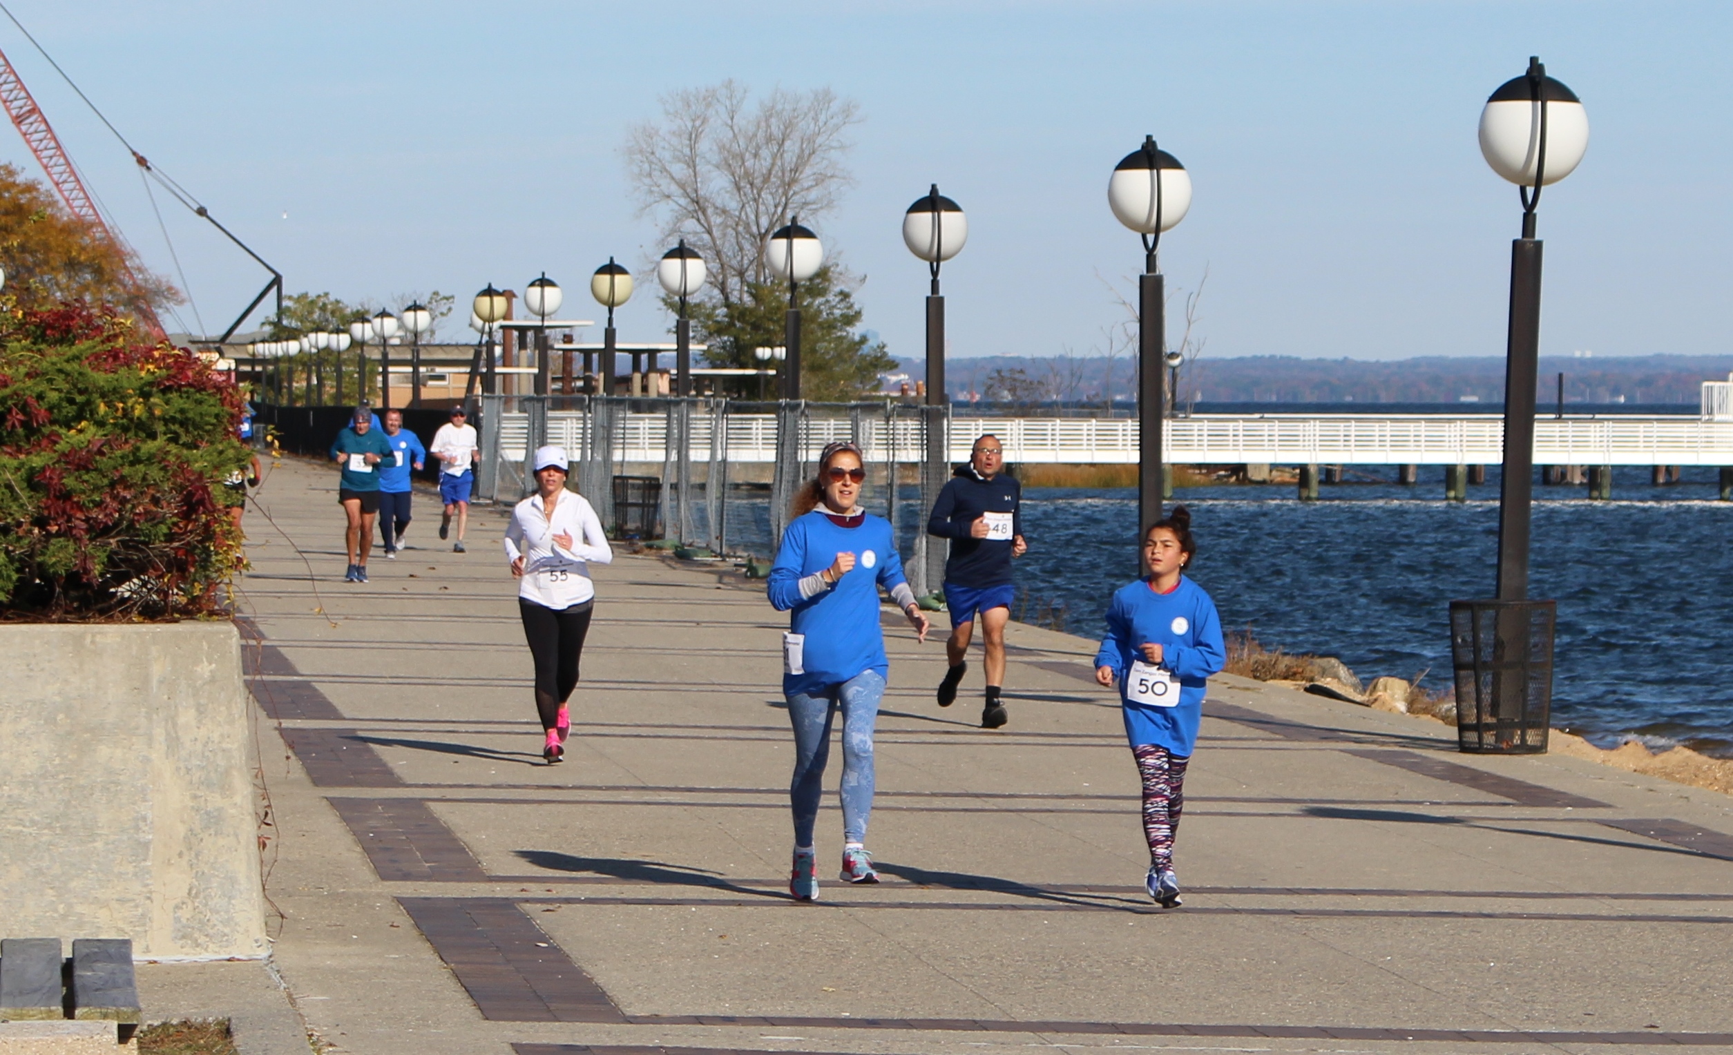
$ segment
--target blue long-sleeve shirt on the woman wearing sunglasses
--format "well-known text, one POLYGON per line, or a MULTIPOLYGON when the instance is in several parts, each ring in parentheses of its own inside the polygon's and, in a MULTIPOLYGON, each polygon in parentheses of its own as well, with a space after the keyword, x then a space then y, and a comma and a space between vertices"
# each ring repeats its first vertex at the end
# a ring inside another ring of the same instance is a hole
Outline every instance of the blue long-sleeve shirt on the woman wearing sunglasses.
POLYGON ((879 587, 903 584, 891 523, 863 515, 842 527, 815 509, 797 516, 782 535, 764 592, 776 612, 790 612, 789 629, 804 634, 801 665, 806 674, 783 674, 782 691, 811 693, 844 683, 863 670, 889 676, 884 629, 879 624, 879 587), (854 554, 854 568, 835 586, 802 599, 801 579, 828 568, 839 553, 854 554))

